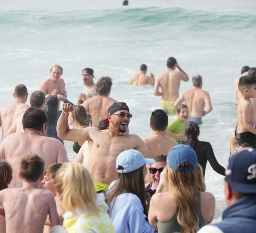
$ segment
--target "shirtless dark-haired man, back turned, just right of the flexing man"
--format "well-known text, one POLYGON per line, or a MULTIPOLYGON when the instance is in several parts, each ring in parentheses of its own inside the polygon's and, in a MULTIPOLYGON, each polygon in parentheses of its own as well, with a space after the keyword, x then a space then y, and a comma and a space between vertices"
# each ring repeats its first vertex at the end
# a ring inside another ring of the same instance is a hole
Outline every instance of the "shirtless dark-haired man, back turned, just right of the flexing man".
MULTIPOLYGON (((150 117, 150 128, 152 129, 152 136, 143 138, 143 141, 148 150, 154 155, 167 155, 168 151, 178 145, 176 141, 166 136, 168 126, 167 113, 161 109, 156 109, 152 112, 150 117)), ((147 168, 151 166, 147 165, 147 168)), ((147 172, 145 184, 151 182, 150 172, 147 172)))

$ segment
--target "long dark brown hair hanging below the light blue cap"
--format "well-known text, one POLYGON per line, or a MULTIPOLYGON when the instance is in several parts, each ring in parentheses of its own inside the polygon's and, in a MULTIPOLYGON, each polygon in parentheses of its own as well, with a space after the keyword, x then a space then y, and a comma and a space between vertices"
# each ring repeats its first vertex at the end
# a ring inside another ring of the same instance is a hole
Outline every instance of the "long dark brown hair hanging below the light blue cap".
MULTIPOLYGON (((114 206, 115 198, 122 193, 133 193, 141 200, 144 214, 147 216, 147 194, 144 184, 143 167, 144 166, 129 173, 118 173, 117 182, 113 185, 112 189, 106 193, 106 202, 108 205, 113 201, 114 206)), ((110 217, 111 215, 112 213, 110 213, 110 217)))

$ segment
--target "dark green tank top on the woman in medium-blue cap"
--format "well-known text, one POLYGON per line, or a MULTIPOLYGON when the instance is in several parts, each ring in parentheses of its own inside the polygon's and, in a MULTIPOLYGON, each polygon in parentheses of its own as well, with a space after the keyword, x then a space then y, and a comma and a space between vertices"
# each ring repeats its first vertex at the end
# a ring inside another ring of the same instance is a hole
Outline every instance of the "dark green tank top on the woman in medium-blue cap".
MULTIPOLYGON (((166 222, 158 221, 158 233, 171 233, 171 232, 183 232, 183 227, 177 222, 177 214, 179 208, 177 207, 174 216, 166 222)), ((199 218, 199 228, 207 225, 207 221, 204 220, 201 213, 201 202, 200 200, 196 202, 196 214, 199 218)))

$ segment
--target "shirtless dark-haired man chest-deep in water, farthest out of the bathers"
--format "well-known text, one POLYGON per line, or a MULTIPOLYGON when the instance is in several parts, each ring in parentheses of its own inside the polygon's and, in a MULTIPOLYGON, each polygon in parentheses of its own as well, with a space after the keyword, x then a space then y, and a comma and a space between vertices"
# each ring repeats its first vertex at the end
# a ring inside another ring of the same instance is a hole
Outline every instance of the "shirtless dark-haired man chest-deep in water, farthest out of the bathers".
POLYGON ((141 72, 139 74, 134 74, 133 77, 131 77, 130 85, 133 86, 142 86, 146 84, 155 84, 154 74, 150 73, 150 77, 146 75, 147 73, 147 66, 145 64, 141 65, 141 72))

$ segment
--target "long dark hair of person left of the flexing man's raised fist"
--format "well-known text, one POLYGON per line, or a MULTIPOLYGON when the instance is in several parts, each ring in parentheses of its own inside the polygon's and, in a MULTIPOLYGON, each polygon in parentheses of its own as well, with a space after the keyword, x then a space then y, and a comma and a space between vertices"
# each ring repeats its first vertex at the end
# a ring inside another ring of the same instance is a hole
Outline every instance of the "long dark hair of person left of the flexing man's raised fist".
POLYGON ((46 114, 48 116, 49 126, 53 126, 56 124, 58 105, 59 99, 57 98, 57 96, 51 95, 46 99, 46 108, 44 108, 44 111, 46 111, 46 114))

